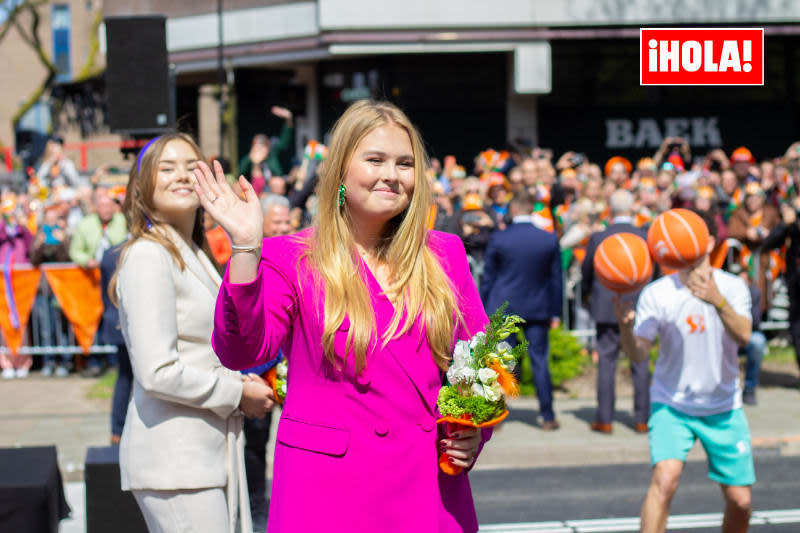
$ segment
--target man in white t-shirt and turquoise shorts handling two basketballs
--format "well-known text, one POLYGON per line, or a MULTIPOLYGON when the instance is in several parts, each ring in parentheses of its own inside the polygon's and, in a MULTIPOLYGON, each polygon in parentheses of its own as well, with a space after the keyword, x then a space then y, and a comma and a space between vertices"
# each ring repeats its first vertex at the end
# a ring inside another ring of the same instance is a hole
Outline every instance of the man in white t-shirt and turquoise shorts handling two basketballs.
POLYGON ((658 338, 648 422, 653 476, 641 514, 647 533, 666 529, 686 455, 698 439, 708 476, 725 498, 722 531, 747 531, 752 512, 756 478, 737 356, 750 338, 750 291, 740 278, 711 267, 717 228, 701 216, 711 234, 702 259, 647 285, 635 312, 615 302, 622 348, 632 360, 647 359, 658 338))

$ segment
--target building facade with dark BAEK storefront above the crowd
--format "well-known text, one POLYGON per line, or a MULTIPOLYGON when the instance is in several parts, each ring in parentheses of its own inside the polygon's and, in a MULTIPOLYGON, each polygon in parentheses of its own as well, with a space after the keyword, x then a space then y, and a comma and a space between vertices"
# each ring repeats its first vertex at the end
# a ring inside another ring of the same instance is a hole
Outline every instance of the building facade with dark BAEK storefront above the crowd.
MULTIPOLYGON (((324 140, 359 98, 399 104, 432 155, 539 145, 603 159, 652 153, 666 135, 693 148, 781 153, 798 133, 800 3, 788 0, 223 0, 222 57, 236 147, 276 135, 272 105, 297 116, 298 149, 324 140), (641 87, 650 26, 764 27, 763 87, 641 87)), ((220 3, 106 0, 107 16, 162 13, 178 114, 219 153, 220 3)), ((236 154, 229 154, 236 155, 236 154)))

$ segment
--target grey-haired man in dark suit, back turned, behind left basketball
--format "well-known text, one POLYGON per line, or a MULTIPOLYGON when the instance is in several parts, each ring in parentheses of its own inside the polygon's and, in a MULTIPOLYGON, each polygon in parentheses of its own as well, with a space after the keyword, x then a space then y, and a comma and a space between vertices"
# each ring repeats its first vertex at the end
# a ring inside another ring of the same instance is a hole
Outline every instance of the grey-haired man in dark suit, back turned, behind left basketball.
MULTIPOLYGON (((603 287, 594 275, 594 253, 603 239, 615 233, 633 233, 647 239, 643 228, 633 225, 633 195, 623 189, 614 192, 609 199, 611 224, 603 231, 592 234, 586 246, 586 258, 581 265, 583 280, 581 288, 585 293, 583 301, 589 301, 590 312, 597 329, 597 415, 592 430, 600 433, 613 431, 615 374, 620 352, 619 327, 614 315, 615 293, 603 287), (591 292, 591 295, 586 294, 591 292), (588 298, 586 298, 588 296, 588 298)), ((623 299, 636 305, 639 291, 625 294, 623 299)), ((647 433, 647 419, 650 416, 650 362, 631 362, 633 372, 633 410, 638 433, 647 433)))

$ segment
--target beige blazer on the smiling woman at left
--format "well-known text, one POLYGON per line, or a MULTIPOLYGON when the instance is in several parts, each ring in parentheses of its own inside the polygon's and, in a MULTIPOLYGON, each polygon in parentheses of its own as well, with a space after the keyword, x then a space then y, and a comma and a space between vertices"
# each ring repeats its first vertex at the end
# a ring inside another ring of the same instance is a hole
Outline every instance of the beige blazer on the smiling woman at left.
POLYGON ((230 530, 239 507, 242 531, 252 531, 238 409, 242 379, 211 348, 221 279, 174 229, 152 231, 176 244, 186 268, 145 239, 122 258, 117 298, 134 378, 120 443, 122 489, 226 487, 230 530))

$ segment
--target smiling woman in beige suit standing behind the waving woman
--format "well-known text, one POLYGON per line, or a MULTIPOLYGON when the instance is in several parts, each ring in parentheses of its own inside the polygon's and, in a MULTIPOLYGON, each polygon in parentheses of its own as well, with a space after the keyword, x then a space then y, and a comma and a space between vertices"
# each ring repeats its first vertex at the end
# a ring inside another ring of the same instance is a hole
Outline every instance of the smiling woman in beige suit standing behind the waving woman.
POLYGON ((190 137, 156 138, 131 170, 131 239, 109 291, 133 368, 120 443, 122 489, 151 533, 250 533, 242 414, 263 417, 271 389, 220 365, 211 348, 220 277, 203 251, 190 137))

